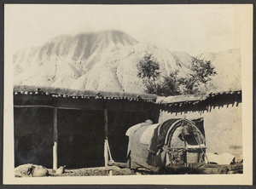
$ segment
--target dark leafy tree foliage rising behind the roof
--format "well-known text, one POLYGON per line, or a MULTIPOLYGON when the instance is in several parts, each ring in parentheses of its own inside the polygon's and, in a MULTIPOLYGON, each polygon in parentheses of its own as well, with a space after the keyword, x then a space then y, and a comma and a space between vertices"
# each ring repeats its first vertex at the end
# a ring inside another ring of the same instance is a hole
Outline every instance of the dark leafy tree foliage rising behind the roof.
POLYGON ((211 61, 192 58, 191 74, 189 77, 177 77, 178 72, 169 76, 160 75, 160 63, 152 54, 146 53, 137 64, 137 77, 143 79, 145 93, 161 96, 196 94, 199 86, 211 80, 217 74, 211 61), (182 89, 183 88, 183 89, 182 89))

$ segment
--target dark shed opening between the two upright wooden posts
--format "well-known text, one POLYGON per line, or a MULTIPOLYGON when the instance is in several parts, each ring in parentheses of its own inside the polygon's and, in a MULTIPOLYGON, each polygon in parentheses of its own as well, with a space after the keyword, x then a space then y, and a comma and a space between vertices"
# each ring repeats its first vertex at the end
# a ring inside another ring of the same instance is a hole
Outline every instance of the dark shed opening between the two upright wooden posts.
POLYGON ((58 110, 58 166, 104 165, 104 112, 58 110))

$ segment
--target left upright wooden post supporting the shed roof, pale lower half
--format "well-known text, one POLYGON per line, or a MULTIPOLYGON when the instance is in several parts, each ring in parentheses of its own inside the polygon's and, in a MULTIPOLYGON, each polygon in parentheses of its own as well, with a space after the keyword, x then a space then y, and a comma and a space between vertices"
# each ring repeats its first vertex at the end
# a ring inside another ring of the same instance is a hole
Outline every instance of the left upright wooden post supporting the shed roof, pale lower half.
POLYGON ((58 128, 57 128, 57 108, 54 108, 54 133, 53 133, 53 169, 56 170, 58 168, 58 154, 57 154, 57 144, 58 144, 58 128))

